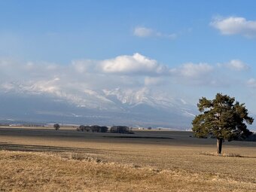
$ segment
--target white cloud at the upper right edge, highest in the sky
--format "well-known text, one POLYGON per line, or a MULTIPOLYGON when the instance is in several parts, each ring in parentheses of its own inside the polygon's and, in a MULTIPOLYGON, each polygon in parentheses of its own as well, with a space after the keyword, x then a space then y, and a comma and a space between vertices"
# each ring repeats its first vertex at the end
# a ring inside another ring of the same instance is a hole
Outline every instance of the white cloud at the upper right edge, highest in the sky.
POLYGON ((210 25, 220 30, 223 35, 256 37, 256 21, 246 20, 244 17, 216 17, 210 25))

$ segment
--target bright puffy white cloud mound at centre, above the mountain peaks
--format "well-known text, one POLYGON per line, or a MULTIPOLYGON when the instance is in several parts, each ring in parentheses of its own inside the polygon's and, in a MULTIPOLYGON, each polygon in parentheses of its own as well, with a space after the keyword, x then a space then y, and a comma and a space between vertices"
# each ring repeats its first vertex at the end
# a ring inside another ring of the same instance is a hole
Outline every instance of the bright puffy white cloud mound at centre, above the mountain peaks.
POLYGON ((99 67, 102 72, 115 74, 163 75, 168 72, 166 66, 139 53, 135 53, 133 56, 117 56, 114 59, 104 60, 99 67))

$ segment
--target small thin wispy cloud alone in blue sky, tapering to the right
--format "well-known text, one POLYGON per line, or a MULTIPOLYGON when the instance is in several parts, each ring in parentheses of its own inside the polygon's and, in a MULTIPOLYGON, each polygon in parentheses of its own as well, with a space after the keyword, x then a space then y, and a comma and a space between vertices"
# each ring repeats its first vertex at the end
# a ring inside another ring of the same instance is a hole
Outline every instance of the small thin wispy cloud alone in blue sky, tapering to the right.
POLYGON ((158 37, 158 38, 169 38, 169 39, 177 38, 177 34, 175 33, 164 34, 163 32, 157 32, 154 29, 150 29, 142 26, 137 26, 133 30, 133 35, 140 38, 147 38, 147 37, 158 37))

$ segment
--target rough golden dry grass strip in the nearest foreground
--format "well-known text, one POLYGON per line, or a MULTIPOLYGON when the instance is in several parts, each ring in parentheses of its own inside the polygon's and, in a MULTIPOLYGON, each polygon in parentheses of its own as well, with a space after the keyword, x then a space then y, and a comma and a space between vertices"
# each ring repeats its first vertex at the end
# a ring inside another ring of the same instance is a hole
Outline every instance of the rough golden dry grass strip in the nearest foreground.
POLYGON ((255 191, 221 174, 104 163, 83 154, 0 151, 1 191, 255 191))

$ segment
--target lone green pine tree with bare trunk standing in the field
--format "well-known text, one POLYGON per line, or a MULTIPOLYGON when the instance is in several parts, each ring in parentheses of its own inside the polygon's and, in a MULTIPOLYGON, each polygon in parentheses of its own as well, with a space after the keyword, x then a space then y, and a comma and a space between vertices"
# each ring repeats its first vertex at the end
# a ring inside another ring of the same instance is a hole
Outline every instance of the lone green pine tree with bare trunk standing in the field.
POLYGON ((198 138, 215 136, 218 154, 221 154, 224 140, 230 142, 251 134, 245 123, 251 124, 254 119, 248 117, 245 104, 236 102, 235 98, 217 93, 212 100, 202 97, 197 107, 201 114, 192 122, 194 136, 198 138))

